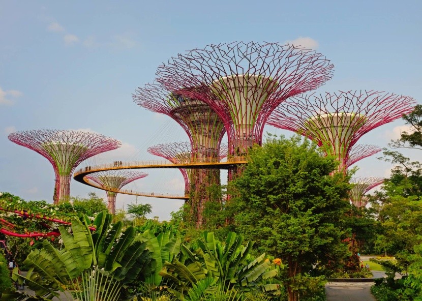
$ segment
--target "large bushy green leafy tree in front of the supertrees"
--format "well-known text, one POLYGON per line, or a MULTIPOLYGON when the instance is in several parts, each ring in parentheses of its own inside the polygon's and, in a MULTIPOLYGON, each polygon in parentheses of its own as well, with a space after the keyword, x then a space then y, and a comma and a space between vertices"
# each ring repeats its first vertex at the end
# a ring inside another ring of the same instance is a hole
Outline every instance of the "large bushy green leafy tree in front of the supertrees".
POLYGON ((240 194, 230 201, 237 208, 235 227, 260 252, 288 265, 290 301, 298 299, 295 276, 332 260, 333 250, 344 250, 339 226, 349 206, 349 185, 343 174, 330 175, 336 168, 335 159, 322 156, 308 140, 269 137, 252 149, 234 182, 240 194))

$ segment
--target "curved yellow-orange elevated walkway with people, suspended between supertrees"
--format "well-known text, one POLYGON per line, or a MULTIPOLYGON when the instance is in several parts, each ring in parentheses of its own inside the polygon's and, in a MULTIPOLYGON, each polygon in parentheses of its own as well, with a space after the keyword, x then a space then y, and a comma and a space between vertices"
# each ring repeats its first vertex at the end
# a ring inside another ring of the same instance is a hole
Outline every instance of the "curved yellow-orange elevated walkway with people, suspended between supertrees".
POLYGON ((151 160, 151 161, 131 161, 131 162, 122 162, 117 166, 114 163, 101 164, 95 166, 85 166, 75 171, 73 178, 77 182, 95 187, 101 190, 106 190, 115 193, 144 196, 144 197, 155 197, 155 198, 165 198, 165 199, 178 199, 186 200, 189 199, 189 195, 173 195, 173 194, 160 194, 154 192, 139 192, 128 189, 113 189, 105 187, 104 185, 95 183, 93 180, 86 178, 86 175, 99 171, 108 171, 108 170, 121 170, 121 169, 151 169, 151 168, 190 168, 190 169, 229 169, 239 164, 248 163, 248 158, 245 157, 234 157, 227 158, 226 160, 219 160, 219 158, 201 158, 201 159, 191 159, 184 160, 180 163, 171 163, 167 160, 151 160))

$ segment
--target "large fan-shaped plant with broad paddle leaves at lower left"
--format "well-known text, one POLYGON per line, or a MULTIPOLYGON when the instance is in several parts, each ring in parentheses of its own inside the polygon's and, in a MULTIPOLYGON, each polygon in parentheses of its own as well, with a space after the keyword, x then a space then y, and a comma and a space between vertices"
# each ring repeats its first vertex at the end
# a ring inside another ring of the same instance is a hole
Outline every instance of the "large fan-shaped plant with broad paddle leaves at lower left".
POLYGON ((80 301, 123 298, 130 284, 150 275, 152 258, 133 227, 122 231, 122 223, 112 225, 111 220, 110 214, 100 213, 91 233, 86 219, 73 219, 72 233, 59 228, 64 248, 57 250, 45 240, 43 249, 32 251, 24 261, 29 267, 26 276, 15 277, 40 300, 59 297, 59 291, 69 291, 80 301))

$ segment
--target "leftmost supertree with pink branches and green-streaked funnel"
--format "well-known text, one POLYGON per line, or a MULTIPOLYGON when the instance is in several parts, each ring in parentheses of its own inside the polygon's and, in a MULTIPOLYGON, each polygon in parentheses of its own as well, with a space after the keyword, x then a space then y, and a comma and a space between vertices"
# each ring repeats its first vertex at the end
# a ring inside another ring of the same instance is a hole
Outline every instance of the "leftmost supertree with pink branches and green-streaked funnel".
POLYGON ((21 131, 10 134, 8 138, 35 150, 53 165, 55 204, 69 200, 70 177, 80 162, 121 145, 118 140, 101 134, 67 130, 21 131))

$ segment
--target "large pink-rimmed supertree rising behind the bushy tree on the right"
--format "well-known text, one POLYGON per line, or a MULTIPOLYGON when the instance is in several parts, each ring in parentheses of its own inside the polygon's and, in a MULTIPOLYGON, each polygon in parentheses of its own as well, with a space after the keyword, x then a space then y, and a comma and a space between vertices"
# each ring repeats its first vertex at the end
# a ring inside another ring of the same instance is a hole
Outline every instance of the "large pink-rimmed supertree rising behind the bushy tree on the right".
POLYGON ((364 134, 413 110, 408 96, 349 91, 293 97, 273 111, 268 124, 315 140, 346 172, 350 149, 364 134))

